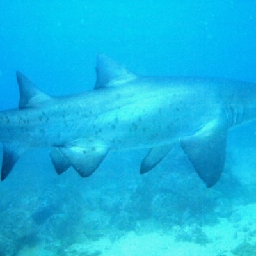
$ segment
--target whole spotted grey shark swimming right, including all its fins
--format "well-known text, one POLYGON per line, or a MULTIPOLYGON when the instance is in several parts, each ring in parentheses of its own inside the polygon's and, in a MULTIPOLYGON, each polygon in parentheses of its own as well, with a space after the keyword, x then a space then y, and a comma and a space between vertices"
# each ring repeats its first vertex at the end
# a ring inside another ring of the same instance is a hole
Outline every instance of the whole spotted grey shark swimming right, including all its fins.
POLYGON ((220 179, 227 132, 256 118, 256 84, 137 76, 97 56, 94 90, 51 97, 17 72, 19 108, 0 112, 1 180, 29 148, 52 147, 58 174, 90 176, 109 151, 150 148, 146 173, 180 143, 207 187, 220 179))

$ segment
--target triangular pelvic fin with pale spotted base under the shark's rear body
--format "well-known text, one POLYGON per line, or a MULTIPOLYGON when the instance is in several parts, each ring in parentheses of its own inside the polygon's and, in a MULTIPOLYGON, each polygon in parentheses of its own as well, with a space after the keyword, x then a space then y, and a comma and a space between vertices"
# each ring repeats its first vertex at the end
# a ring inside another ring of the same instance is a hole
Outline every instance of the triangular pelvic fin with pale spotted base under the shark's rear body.
POLYGON ((63 154, 81 177, 90 176, 99 167, 108 153, 107 148, 100 145, 88 147, 81 143, 68 147, 59 147, 58 150, 60 150, 61 154, 63 154))

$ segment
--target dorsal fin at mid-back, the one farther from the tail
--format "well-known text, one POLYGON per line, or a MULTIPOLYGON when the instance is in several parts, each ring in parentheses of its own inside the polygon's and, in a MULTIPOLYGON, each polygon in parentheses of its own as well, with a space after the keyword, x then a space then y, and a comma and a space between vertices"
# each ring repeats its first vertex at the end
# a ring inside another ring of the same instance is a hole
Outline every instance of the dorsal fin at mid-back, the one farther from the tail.
POLYGON ((106 87, 114 80, 120 82, 136 78, 132 72, 104 55, 97 55, 96 74, 95 89, 106 87))

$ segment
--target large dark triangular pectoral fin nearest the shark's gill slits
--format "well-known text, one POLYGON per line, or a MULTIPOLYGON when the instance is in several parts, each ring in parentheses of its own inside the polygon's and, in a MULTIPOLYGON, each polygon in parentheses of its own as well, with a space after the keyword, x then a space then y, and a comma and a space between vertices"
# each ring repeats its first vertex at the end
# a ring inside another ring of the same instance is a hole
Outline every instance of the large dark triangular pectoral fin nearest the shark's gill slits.
POLYGON ((212 120, 180 145, 208 188, 220 179, 225 164, 228 125, 225 118, 212 120))

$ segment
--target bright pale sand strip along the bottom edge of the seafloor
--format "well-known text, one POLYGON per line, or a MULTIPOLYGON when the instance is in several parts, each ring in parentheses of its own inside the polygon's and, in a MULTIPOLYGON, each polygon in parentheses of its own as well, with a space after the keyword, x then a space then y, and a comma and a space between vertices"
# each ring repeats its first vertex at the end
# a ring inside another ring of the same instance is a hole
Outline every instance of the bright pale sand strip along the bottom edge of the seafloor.
MULTIPOLYGON (((79 256, 233 256, 256 255, 256 204, 239 207, 230 220, 221 219, 218 225, 204 226, 200 232, 207 236, 208 242, 198 244, 195 241, 180 241, 177 232, 180 227, 173 227, 168 233, 148 232, 137 234, 127 232, 118 239, 102 237, 97 241, 83 241, 62 248, 58 252, 45 250, 46 246, 24 248, 18 256, 38 255, 79 255, 79 256), (241 246, 245 244, 245 246, 241 246), (249 244, 249 248, 244 248, 249 244), (253 244, 250 247, 250 244, 253 244), (254 248, 254 247, 255 248, 254 248), (239 250, 237 250, 239 248, 239 250), (234 251, 235 250, 235 251, 234 251), (255 250, 255 254, 253 253, 255 250)), ((184 230, 190 227, 183 227, 184 230)), ((189 232, 188 232, 189 233, 189 232)), ((193 230, 189 233, 193 237, 193 230)), ((109 234, 110 235, 110 234, 109 234)), ((113 235, 113 234, 111 234, 113 235)))

